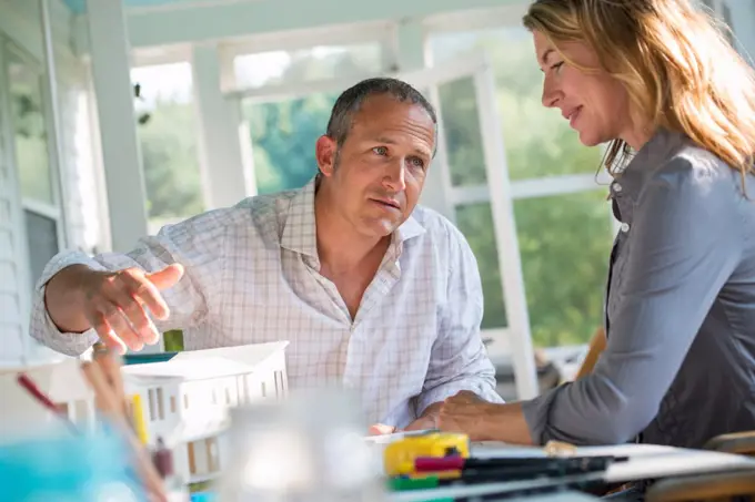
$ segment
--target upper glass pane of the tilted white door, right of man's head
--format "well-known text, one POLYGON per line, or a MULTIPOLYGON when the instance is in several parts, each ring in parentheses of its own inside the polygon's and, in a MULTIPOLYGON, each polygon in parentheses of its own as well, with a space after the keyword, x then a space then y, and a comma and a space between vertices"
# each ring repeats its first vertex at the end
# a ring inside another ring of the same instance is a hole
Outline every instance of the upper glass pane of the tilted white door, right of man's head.
POLYGON ((454 186, 484 184, 487 176, 474 80, 467 76, 445 82, 437 91, 451 183, 454 186))

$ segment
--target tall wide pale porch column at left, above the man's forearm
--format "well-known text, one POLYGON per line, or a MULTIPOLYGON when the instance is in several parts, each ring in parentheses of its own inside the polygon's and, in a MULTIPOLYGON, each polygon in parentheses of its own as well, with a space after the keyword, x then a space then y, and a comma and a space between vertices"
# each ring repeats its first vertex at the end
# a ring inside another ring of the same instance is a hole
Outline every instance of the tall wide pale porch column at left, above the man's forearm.
POLYGON ((148 233, 144 177, 134 123, 123 2, 87 0, 92 81, 108 189, 112 249, 148 233))

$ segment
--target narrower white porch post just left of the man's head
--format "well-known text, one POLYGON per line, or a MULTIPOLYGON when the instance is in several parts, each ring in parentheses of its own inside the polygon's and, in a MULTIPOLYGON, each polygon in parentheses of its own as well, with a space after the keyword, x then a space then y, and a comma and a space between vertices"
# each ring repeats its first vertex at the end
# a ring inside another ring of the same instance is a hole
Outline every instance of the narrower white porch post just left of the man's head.
POLYGON ((193 50, 194 102, 200 136, 200 168, 208 208, 231 206, 254 195, 254 176, 244 174, 240 103, 221 90, 221 65, 214 45, 193 50))

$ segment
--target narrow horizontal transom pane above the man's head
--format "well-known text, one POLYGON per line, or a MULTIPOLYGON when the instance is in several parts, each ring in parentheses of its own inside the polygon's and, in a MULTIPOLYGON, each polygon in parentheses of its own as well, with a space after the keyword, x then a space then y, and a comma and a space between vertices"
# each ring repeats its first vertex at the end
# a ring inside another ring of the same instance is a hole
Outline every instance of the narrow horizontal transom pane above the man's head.
POLYGON ((381 73, 383 66, 383 49, 379 42, 315 45, 295 51, 243 54, 233 59, 240 88, 381 73))

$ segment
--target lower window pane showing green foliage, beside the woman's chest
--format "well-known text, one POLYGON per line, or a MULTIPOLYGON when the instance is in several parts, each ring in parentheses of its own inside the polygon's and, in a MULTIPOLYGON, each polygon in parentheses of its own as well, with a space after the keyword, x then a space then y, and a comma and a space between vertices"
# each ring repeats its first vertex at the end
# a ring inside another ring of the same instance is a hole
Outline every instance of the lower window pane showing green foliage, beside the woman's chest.
POLYGON ((586 344, 603 322, 612 217, 603 191, 514 202, 535 347, 586 344))

